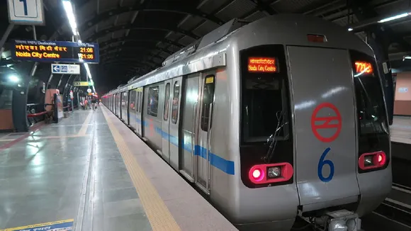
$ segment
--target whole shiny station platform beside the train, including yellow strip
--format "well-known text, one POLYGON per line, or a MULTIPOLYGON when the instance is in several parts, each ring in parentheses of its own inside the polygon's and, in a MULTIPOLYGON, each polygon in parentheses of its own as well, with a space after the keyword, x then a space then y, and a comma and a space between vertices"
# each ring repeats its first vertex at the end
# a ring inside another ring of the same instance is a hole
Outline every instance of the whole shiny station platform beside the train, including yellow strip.
POLYGON ((237 230, 102 105, 0 136, 0 230, 34 228, 237 230))

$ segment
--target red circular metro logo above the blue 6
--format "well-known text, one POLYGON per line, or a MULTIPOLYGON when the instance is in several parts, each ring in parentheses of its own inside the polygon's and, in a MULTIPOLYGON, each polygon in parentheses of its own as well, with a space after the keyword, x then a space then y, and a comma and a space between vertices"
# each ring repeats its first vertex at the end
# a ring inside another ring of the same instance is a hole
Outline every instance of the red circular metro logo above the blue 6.
POLYGON ((332 142, 335 139, 337 139, 339 133, 341 132, 341 126, 342 126, 342 118, 341 114, 339 113, 338 109, 336 106, 334 106, 332 103, 321 103, 317 108, 314 109, 313 111, 313 116, 311 116, 311 130, 313 130, 313 133, 315 137, 317 137, 318 140, 322 142, 332 142), (322 108, 330 108, 332 111, 334 111, 335 116, 326 116, 326 117, 317 117, 318 112, 322 108), (330 124, 334 122, 334 120, 337 120, 337 123, 330 124), (315 122, 324 122, 321 124, 315 124, 315 122), (324 137, 318 133, 318 130, 320 129, 330 129, 330 128, 337 128, 335 130, 334 134, 330 137, 324 137))

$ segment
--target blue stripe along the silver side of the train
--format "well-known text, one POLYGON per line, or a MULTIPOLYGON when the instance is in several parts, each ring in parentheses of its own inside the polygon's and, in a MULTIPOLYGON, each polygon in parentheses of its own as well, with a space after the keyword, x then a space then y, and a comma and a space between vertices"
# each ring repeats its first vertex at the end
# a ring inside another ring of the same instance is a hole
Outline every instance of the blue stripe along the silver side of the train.
MULTIPOLYGON (((133 117, 135 116, 133 115, 133 117)), ((135 117, 135 121, 141 124, 141 120, 139 118, 135 117)), ((143 125, 146 128, 149 127, 149 123, 147 123, 147 121, 143 121, 143 125)), ((164 138, 165 140, 169 139, 172 145, 179 147, 179 139, 177 137, 175 137, 174 135, 169 135, 168 133, 164 132, 161 128, 158 127, 155 127, 154 130, 157 134, 162 135, 162 138, 164 138)), ((184 140, 181 140, 181 143, 183 143, 184 145, 184 150, 186 150, 187 152, 191 152, 191 143, 184 142, 184 140)), ((207 159, 207 150, 204 147, 201 147, 200 145, 194 146, 194 154, 202 157, 203 159, 207 159)), ((211 165, 220 169, 221 171, 224 171, 227 174, 234 175, 234 162, 224 159, 223 157, 219 157, 218 155, 212 152, 210 152, 209 157, 211 165)))

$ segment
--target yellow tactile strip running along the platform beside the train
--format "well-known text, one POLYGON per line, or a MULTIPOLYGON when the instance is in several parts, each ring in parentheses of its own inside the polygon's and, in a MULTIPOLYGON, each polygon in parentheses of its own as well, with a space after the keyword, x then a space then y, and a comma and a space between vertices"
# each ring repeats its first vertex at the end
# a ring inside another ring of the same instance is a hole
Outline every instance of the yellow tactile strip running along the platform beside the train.
POLYGON ((123 137, 118 133, 117 128, 111 122, 106 113, 106 108, 101 107, 104 117, 106 117, 108 127, 113 134, 118 150, 123 157, 125 167, 130 174, 131 180, 137 190, 138 196, 145 209, 152 230, 154 231, 179 231, 181 230, 176 220, 174 220, 169 209, 160 198, 157 190, 151 184, 150 180, 141 169, 137 160, 133 157, 130 149, 125 144, 123 137))

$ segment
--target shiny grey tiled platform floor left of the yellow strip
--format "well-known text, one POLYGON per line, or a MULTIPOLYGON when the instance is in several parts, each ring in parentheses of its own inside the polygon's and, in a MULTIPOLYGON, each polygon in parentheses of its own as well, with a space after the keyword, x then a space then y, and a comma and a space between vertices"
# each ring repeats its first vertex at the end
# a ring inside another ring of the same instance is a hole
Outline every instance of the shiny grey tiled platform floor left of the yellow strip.
POLYGON ((99 110, 0 152, 0 229, 66 219, 81 230, 152 230, 99 110))

